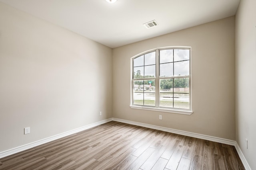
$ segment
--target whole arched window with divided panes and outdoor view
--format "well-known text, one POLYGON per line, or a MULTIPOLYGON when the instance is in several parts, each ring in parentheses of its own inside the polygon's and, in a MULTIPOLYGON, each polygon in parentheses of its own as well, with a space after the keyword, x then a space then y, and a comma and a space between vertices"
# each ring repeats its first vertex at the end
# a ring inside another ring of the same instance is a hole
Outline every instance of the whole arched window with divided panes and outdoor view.
POLYGON ((190 60, 190 47, 159 48, 132 57, 131 107, 192 114, 190 60))

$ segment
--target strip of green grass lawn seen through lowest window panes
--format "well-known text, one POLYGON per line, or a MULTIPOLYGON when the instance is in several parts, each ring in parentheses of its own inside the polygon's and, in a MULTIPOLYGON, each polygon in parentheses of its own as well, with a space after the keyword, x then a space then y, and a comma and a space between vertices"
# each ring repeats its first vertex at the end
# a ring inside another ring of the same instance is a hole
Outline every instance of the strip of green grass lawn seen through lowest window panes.
MULTIPOLYGON (((172 101, 161 100, 160 101, 160 106, 161 107, 172 107, 172 103, 173 103, 172 101)), ((143 105, 143 100, 134 100, 134 104, 143 105)), ((155 101, 154 100, 144 100, 144 106, 155 106, 155 101)), ((188 109, 189 108, 189 103, 188 102, 175 101, 174 102, 174 107, 175 108, 188 109)))

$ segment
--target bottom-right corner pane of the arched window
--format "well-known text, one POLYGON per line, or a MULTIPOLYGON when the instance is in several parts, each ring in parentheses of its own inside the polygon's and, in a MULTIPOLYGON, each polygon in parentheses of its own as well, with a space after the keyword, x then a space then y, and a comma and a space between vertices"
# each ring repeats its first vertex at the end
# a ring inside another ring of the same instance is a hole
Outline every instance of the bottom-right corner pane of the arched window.
POLYGON ((175 94, 174 93, 174 107, 189 109, 189 94, 175 94))

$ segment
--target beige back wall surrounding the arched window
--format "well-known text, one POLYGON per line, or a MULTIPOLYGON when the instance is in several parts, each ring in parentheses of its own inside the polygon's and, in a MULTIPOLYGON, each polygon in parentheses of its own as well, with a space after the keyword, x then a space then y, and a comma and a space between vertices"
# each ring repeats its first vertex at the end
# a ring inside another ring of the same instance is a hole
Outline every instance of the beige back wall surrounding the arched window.
POLYGON ((230 17, 113 49, 113 117, 235 140, 234 20, 230 17), (129 107, 131 57, 166 46, 192 47, 192 115, 129 107))

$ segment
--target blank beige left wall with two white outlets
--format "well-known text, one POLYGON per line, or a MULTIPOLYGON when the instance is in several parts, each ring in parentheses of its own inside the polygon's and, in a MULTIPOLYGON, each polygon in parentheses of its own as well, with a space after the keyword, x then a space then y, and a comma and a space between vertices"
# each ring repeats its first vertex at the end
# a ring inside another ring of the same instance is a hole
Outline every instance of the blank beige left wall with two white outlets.
POLYGON ((111 117, 112 49, 0 3, 0 152, 111 117))

